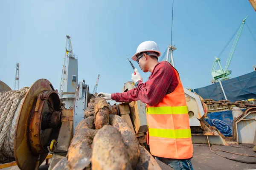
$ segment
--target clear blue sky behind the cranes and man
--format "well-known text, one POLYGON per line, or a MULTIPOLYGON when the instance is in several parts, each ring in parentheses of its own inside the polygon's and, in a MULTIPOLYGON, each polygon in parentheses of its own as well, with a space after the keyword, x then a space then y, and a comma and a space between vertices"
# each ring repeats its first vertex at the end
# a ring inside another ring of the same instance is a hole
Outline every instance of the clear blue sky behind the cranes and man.
MULTIPOLYGON (((214 56, 247 15, 256 37, 256 12, 248 0, 174 0, 173 55, 184 87, 210 85, 214 56)), ((68 34, 78 56, 79 81, 84 79, 92 92, 100 74, 97 92, 121 92, 133 73, 126 56, 131 58, 146 40, 157 42, 163 53, 171 43, 171 21, 171 0, 3 1, 0 80, 13 89, 19 62, 20 88, 45 78, 58 89, 68 34)), ((232 43, 220 57, 223 66, 232 43)), ((231 77, 253 71, 255 49, 245 25, 230 64, 231 77)), ((144 80, 150 75, 140 73, 144 80)))

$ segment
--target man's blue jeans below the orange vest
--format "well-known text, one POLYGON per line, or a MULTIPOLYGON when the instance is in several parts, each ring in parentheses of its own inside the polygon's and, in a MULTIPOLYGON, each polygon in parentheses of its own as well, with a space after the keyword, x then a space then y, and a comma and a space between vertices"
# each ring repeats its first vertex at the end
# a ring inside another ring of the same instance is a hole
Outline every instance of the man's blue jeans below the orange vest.
POLYGON ((166 158, 160 158, 160 157, 155 157, 155 158, 169 165, 174 170, 194 170, 192 167, 191 159, 175 160, 175 159, 166 159, 166 158))

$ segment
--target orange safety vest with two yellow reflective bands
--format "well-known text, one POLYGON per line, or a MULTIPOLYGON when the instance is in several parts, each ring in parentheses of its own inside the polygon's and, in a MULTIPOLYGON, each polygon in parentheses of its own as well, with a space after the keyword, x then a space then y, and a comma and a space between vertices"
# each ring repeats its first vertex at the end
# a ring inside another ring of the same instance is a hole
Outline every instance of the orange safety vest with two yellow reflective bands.
POLYGON ((147 143, 153 156, 190 159, 193 145, 188 108, 180 76, 174 70, 179 82, 175 90, 157 105, 147 105, 147 143))

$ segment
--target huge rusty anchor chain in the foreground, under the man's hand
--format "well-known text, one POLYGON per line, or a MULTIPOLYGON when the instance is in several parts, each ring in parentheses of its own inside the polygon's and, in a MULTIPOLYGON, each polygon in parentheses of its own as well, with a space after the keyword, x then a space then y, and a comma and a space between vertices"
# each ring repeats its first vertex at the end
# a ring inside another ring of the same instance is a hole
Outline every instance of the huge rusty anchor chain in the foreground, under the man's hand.
POLYGON ((118 116, 118 106, 111 106, 97 96, 87 106, 67 156, 53 170, 161 169, 139 145, 128 123, 118 116))

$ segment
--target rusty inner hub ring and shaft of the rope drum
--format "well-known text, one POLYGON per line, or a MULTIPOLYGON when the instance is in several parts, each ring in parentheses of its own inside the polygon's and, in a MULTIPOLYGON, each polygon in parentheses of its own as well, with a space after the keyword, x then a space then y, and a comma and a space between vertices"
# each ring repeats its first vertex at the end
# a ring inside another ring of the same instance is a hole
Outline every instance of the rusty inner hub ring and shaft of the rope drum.
POLYGON ((61 102, 56 91, 38 94, 29 119, 29 145, 35 154, 48 153, 52 139, 57 139, 61 125, 61 102), (54 128, 55 127, 55 128, 54 128))

